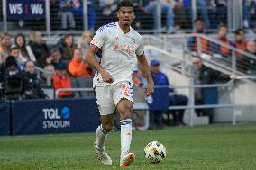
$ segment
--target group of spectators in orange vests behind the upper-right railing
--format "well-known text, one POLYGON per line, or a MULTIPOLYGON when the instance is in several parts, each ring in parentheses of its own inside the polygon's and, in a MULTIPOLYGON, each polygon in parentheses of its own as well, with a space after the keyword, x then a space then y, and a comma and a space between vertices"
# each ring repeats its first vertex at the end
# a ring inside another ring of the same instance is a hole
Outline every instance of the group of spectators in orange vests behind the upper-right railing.
POLYGON ((187 40, 187 49, 192 55, 199 55, 202 58, 213 59, 228 67, 232 66, 232 57, 236 59, 236 67, 238 71, 246 74, 255 74, 256 65, 255 56, 256 43, 255 40, 247 39, 243 29, 237 29, 233 32, 234 40, 228 37, 228 28, 225 24, 220 24, 215 40, 206 40, 204 37, 197 35, 207 35, 205 22, 202 19, 196 19, 195 31, 187 40), (236 48, 243 52, 232 52, 231 48, 236 48))

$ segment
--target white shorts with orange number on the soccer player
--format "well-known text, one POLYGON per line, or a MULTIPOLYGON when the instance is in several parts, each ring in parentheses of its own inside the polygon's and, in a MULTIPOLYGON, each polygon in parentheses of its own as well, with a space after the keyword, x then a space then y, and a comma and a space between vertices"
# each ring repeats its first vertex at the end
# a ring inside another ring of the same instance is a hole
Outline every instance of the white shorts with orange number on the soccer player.
POLYGON ((133 85, 129 82, 96 86, 96 100, 100 115, 114 113, 115 106, 123 98, 133 103, 133 85))

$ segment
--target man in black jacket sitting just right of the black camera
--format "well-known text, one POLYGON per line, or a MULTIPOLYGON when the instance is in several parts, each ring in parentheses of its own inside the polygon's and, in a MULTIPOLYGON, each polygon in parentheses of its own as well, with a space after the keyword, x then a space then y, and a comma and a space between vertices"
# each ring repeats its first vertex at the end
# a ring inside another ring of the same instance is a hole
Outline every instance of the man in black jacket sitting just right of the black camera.
POLYGON ((42 91, 40 80, 34 70, 34 63, 28 60, 24 64, 23 72, 23 98, 24 99, 45 99, 47 96, 42 91))

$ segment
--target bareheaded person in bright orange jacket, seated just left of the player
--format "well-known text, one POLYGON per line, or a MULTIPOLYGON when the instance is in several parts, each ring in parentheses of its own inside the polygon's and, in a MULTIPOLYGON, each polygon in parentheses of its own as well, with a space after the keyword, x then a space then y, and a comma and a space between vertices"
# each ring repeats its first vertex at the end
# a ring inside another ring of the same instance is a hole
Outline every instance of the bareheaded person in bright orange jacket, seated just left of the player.
POLYGON ((82 56, 81 49, 74 50, 74 56, 69 62, 69 73, 71 76, 92 76, 93 69, 89 67, 87 60, 82 56))

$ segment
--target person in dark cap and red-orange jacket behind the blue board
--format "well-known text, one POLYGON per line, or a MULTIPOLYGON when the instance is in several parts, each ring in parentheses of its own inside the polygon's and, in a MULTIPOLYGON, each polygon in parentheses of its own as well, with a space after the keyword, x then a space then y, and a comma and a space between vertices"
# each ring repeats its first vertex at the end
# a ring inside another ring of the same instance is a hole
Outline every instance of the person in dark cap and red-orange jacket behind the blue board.
MULTIPOLYGON (((67 72, 67 65, 60 63, 55 67, 55 74, 52 76, 53 88, 57 91, 59 88, 72 88, 71 81, 67 72)), ((73 94, 71 91, 59 92, 58 98, 71 98, 73 94)))

